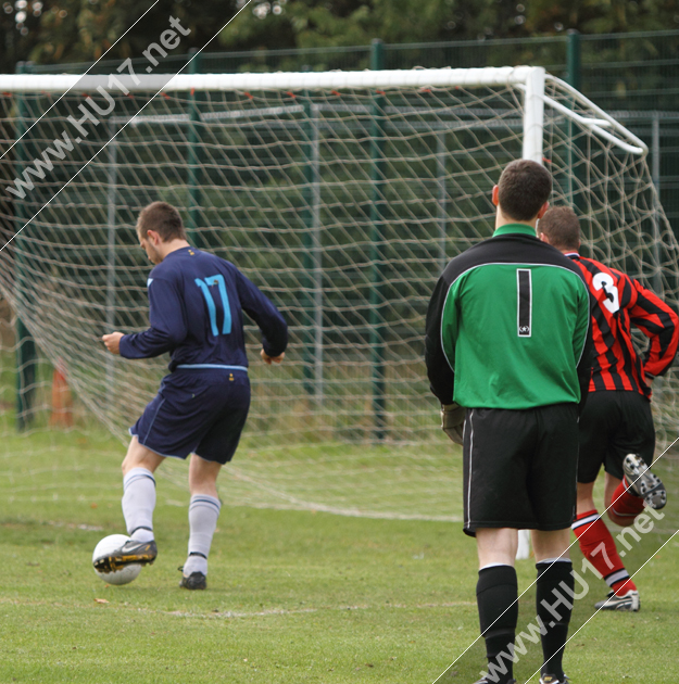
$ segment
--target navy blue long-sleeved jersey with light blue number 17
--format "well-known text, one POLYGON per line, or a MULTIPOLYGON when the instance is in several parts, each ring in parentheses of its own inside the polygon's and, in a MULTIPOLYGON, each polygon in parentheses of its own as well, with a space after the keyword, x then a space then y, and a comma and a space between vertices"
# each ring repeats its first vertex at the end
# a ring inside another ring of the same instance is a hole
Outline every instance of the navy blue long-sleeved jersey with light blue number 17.
POLYGON ((149 275, 151 327, 121 339, 121 356, 169 352, 178 366, 248 367, 244 311, 268 356, 282 354, 288 327, 276 307, 229 262, 192 246, 171 252, 149 275))

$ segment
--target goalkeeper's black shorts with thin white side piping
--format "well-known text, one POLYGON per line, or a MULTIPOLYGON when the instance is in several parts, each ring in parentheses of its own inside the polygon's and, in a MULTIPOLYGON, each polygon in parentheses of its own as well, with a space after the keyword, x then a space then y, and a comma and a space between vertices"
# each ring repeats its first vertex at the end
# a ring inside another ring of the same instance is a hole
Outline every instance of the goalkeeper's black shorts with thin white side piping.
POLYGON ((564 530, 576 506, 578 407, 469 408, 464 431, 464 531, 564 530))

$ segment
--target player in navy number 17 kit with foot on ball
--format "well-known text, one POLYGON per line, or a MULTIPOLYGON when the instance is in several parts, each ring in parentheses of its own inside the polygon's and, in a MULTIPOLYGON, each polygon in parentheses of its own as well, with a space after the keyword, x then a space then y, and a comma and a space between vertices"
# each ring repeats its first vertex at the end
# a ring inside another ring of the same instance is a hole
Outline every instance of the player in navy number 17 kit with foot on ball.
POLYGON ((124 546, 95 560, 101 571, 151 563, 153 472, 167 457, 189 465, 189 547, 180 586, 206 586, 208 555, 217 518, 217 474, 240 439, 250 406, 242 312, 262 331, 262 359, 279 364, 288 342, 282 316, 232 264, 192 248, 177 210, 153 202, 139 214, 139 243, 155 267, 149 275, 150 328, 112 332, 102 340, 125 358, 171 355, 155 398, 130 428, 123 461, 123 515, 130 535, 124 546))

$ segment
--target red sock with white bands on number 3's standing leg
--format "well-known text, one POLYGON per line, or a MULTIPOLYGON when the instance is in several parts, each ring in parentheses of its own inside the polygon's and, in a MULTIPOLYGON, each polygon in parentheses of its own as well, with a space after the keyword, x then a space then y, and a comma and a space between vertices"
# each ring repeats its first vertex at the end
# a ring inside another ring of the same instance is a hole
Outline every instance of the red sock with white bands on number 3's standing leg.
POLYGON ((629 579, 613 536, 596 509, 577 516, 571 527, 578 537, 582 555, 599 570, 606 584, 618 596, 637 588, 629 579))

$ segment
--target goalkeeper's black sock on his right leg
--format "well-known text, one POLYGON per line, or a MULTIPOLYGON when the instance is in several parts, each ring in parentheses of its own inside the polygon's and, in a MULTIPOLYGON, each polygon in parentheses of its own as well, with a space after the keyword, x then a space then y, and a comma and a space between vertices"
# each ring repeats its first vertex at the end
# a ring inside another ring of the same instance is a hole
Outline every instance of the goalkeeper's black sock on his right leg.
POLYGON ((542 634, 544 657, 542 674, 562 679, 564 676, 562 659, 568 637, 575 590, 573 563, 565 560, 548 561, 537 563, 536 568, 538 569, 536 592, 538 617, 546 630, 546 633, 542 634))

